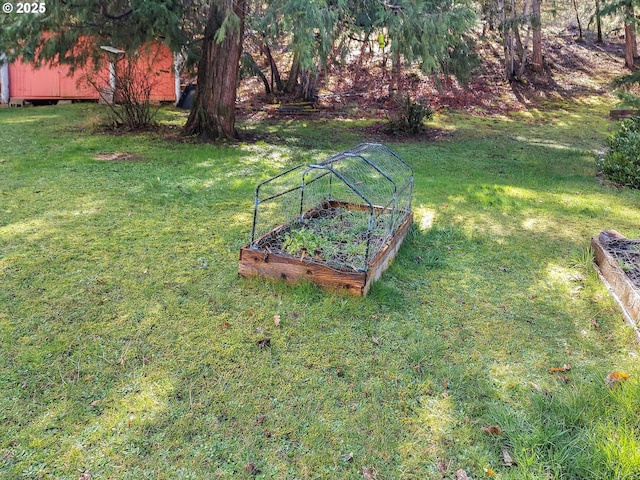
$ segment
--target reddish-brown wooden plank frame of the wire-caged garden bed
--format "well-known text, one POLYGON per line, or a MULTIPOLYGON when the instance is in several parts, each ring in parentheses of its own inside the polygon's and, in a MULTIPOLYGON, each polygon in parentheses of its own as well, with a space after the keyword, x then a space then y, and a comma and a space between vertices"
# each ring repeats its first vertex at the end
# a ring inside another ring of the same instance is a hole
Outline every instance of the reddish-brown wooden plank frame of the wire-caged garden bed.
MULTIPOLYGON (((358 205, 344 205, 347 208, 362 208, 358 205)), ((393 238, 378 252, 369 264, 366 272, 346 272, 309 260, 279 255, 246 245, 240 249, 238 273, 243 277, 262 276, 282 279, 289 283, 309 281, 320 287, 340 290, 351 295, 363 297, 369 293, 371 284, 378 280, 396 256, 400 245, 407 236, 413 223, 413 213, 398 227, 393 238)), ((277 227, 265 235, 271 235, 281 229, 277 227)), ((263 237, 264 238, 264 237, 263 237)), ((256 242, 256 243, 259 243, 256 242)))

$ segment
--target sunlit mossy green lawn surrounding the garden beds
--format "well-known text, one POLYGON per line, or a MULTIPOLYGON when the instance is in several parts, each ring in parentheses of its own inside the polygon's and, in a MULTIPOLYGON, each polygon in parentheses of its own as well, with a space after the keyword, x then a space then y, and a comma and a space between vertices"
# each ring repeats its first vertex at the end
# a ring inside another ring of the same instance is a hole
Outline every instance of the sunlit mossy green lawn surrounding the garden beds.
POLYGON ((590 266, 640 236, 596 178, 605 100, 388 143, 416 222, 365 299, 237 275, 255 185, 363 122, 214 146, 0 110, 0 478, 640 478, 636 345, 590 266))

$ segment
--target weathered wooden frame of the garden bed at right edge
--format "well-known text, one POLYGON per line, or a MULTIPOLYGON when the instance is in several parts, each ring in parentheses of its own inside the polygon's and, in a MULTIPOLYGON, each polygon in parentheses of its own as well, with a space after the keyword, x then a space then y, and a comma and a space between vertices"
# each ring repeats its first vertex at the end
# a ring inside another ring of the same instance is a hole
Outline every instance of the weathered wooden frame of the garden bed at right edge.
POLYGON ((625 322, 633 328, 636 341, 640 343, 640 292, 625 274, 615 258, 606 248, 612 240, 626 238, 614 230, 601 233, 591 239, 591 247, 595 254, 598 274, 622 309, 625 322))

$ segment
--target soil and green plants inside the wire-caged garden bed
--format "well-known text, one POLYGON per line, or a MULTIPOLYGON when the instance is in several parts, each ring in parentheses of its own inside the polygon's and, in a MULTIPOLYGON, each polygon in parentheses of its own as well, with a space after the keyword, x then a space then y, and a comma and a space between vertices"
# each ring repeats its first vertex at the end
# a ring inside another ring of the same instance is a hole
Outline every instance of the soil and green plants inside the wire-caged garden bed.
POLYGON ((368 261, 382 250, 393 234, 390 213, 374 214, 373 228, 369 232, 370 217, 369 210, 313 209, 300 221, 264 236, 256 246, 270 253, 324 264, 340 271, 366 271, 368 261))

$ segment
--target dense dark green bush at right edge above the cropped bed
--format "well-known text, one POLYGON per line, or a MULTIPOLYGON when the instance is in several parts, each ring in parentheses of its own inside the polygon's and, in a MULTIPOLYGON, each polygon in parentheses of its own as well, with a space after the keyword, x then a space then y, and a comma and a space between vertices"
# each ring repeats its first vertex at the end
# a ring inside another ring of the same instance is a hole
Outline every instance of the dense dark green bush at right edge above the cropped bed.
POLYGON ((640 188, 640 117, 622 122, 609 138, 609 151, 597 161, 597 167, 611 182, 640 188))

